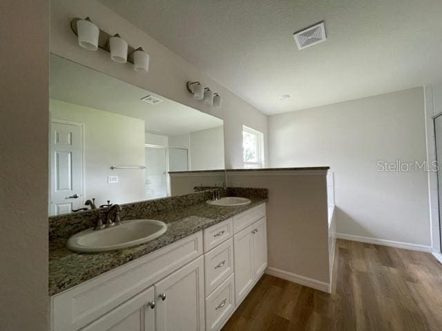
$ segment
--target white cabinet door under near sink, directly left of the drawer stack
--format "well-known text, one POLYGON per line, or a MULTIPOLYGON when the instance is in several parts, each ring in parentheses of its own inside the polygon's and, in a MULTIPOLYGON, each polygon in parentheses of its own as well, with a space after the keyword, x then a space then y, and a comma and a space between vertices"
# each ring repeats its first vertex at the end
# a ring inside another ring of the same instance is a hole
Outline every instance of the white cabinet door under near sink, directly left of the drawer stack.
POLYGON ((155 284, 157 330, 204 330, 204 259, 199 257, 155 284))

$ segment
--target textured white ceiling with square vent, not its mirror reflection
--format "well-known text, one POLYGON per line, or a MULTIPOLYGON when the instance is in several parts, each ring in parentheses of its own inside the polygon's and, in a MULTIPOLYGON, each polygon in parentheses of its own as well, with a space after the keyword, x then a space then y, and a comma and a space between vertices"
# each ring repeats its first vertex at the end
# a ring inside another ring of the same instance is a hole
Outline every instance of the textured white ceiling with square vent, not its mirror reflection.
POLYGON ((266 114, 442 81, 441 0, 100 1, 266 114))

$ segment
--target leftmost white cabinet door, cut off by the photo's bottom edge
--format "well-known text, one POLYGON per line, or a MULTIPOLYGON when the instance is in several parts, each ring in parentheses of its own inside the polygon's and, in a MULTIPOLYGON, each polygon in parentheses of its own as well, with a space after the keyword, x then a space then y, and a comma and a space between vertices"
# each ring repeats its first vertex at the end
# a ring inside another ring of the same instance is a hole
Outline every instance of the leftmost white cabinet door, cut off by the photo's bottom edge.
POLYGON ((81 331, 155 331, 153 286, 111 310, 81 331))

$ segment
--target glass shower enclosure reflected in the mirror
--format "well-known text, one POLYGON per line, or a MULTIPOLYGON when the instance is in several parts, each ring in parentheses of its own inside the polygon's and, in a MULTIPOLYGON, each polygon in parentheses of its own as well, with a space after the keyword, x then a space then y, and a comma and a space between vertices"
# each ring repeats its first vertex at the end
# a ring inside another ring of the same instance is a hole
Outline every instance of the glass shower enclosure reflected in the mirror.
POLYGON ((146 199, 171 195, 169 171, 189 170, 188 151, 184 148, 146 145, 146 199))

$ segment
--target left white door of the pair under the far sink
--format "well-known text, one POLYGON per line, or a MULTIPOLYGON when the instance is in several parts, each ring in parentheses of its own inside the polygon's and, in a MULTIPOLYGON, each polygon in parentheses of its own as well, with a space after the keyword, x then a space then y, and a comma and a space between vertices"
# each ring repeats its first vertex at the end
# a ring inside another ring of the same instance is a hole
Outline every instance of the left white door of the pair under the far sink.
POLYGON ((249 293, 253 284, 253 234, 252 225, 238 232, 233 237, 233 251, 235 261, 235 302, 239 305, 249 293))

